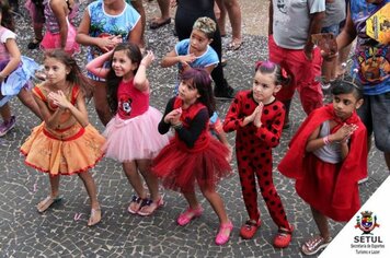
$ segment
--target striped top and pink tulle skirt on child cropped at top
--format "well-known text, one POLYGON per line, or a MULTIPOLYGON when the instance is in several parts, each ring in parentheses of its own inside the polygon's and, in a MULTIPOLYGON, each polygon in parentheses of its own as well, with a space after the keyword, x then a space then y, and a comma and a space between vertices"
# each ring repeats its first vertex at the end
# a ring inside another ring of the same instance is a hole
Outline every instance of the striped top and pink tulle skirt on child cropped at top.
MULTIPOLYGON (((69 1, 66 0, 66 2, 68 4, 69 13, 72 13, 72 9, 69 5, 69 1)), ((44 13, 45 13, 46 33, 41 43, 41 48, 44 50, 61 48, 61 36, 59 33, 59 24, 58 24, 57 16, 55 15, 55 13, 50 8, 50 0, 45 0, 44 5, 45 5, 44 13)), ((69 22, 69 17, 67 16, 66 19, 68 24, 68 35, 64 49, 69 54, 79 52, 80 46, 78 43, 76 43, 76 34, 77 34, 76 28, 69 22)))

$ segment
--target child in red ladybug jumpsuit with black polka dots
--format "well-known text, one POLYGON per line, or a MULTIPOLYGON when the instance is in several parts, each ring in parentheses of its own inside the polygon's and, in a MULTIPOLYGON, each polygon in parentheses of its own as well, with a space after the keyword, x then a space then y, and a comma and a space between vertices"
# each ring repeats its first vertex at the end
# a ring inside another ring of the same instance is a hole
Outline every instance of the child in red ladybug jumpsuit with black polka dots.
POLYGON ((279 144, 285 107, 275 94, 289 78, 274 62, 257 62, 252 90, 241 91, 232 102, 223 122, 223 130, 237 131, 236 154, 242 197, 249 220, 241 226, 244 239, 254 236, 261 226, 257 208, 256 179, 269 214, 278 226, 274 246, 287 247, 292 226, 288 223, 282 200, 273 183, 272 148, 279 144))

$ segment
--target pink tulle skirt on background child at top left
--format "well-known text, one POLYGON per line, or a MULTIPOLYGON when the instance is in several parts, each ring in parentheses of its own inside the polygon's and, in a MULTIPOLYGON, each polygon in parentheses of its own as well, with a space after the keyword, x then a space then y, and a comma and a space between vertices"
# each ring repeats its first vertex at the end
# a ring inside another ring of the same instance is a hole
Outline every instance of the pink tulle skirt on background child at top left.
MULTIPOLYGON (((80 46, 76 42, 76 28, 73 25, 68 23, 68 37, 67 43, 65 45, 65 51, 72 55, 74 52, 80 52, 80 46)), ((41 42, 41 48, 43 50, 61 48, 61 37, 59 34, 53 34, 48 30, 46 30, 44 39, 41 42)))

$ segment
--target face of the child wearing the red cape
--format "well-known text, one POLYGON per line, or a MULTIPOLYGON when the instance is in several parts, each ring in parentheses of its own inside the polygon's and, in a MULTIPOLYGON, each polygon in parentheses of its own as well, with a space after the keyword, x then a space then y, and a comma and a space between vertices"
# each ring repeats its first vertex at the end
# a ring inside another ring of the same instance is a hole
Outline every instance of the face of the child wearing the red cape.
POLYGON ((339 94, 333 96, 333 108, 335 115, 342 120, 352 116, 355 109, 359 108, 363 99, 357 101, 353 93, 339 94))

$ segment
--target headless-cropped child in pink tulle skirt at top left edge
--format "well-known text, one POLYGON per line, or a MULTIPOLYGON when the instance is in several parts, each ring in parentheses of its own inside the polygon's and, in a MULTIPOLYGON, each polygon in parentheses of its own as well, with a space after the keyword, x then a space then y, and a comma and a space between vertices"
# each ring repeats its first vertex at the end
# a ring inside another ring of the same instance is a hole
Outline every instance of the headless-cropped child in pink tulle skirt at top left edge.
POLYGON ((76 28, 69 22, 73 0, 44 0, 46 33, 41 43, 43 49, 62 48, 68 54, 80 51, 76 43, 76 28))

